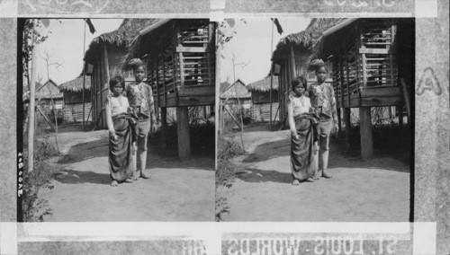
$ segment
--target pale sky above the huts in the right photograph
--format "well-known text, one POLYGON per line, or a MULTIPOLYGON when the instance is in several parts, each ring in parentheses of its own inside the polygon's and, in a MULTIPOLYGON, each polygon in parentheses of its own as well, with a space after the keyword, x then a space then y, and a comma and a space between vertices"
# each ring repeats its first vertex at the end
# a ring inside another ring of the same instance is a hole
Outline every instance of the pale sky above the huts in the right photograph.
MULTIPOLYGON (((271 54, 272 21, 269 18, 246 18, 247 23, 236 21, 236 34, 234 38, 226 43, 223 49, 225 59, 221 59, 220 82, 233 81, 233 65, 227 58, 232 52, 238 55, 236 63, 244 63, 247 66, 236 66, 236 79, 250 84, 263 79, 269 74, 271 54)), ((274 29, 274 50, 278 41, 285 36, 304 31, 311 22, 310 18, 280 18, 283 27, 280 35, 274 29)))

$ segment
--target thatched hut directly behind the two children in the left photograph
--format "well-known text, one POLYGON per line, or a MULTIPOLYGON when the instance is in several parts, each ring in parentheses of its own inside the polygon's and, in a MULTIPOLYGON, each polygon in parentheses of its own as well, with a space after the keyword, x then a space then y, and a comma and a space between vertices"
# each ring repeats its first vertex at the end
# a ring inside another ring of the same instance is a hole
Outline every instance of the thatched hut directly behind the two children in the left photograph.
POLYGON ((98 127, 106 127, 106 114, 103 102, 109 91, 109 80, 115 75, 122 75, 127 83, 134 81, 132 72, 121 70, 121 64, 127 54, 131 40, 139 30, 158 19, 124 19, 116 31, 103 33, 94 38, 85 52, 85 70, 93 66, 91 77, 92 119, 98 127))

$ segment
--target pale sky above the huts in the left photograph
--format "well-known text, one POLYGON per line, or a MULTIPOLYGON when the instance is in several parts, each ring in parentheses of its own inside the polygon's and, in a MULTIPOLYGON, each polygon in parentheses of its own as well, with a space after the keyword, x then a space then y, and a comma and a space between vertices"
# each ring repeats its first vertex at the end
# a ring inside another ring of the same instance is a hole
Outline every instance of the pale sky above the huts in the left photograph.
MULTIPOLYGON (((91 34, 86 26, 85 49, 91 40, 101 35, 103 32, 114 31, 119 28, 121 19, 92 19, 95 33, 91 34)), ((49 78, 56 84, 63 84, 75 79, 81 74, 83 66, 83 33, 85 21, 83 19, 58 19, 50 20, 48 30, 49 39, 40 44, 40 51, 48 51, 53 57, 50 62, 63 63, 59 71, 54 67, 49 68, 49 78), (60 22, 59 22, 60 21, 60 22)), ((45 56, 45 54, 44 54, 45 56)), ((38 55, 38 74, 43 78, 43 83, 47 81, 46 64, 38 55)))

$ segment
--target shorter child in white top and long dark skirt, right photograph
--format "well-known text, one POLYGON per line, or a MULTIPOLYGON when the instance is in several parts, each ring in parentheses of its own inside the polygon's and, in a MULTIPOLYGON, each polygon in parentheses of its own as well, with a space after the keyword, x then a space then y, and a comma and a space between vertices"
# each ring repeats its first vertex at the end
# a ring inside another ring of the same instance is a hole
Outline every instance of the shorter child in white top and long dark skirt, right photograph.
POLYGON ((288 120, 291 128, 291 171, 293 185, 300 181, 317 180, 317 168, 314 163, 314 145, 319 139, 319 117, 311 113, 311 101, 304 94, 307 81, 303 76, 293 80, 295 93, 289 96, 288 120))

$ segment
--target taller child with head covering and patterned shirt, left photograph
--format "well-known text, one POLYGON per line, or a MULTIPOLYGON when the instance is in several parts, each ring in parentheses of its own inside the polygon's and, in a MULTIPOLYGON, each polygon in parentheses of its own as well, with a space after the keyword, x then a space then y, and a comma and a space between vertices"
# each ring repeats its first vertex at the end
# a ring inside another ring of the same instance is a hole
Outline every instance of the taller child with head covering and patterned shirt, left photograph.
POLYGON ((150 178, 150 174, 146 170, 148 132, 150 130, 151 132, 157 131, 153 92, 151 87, 143 82, 145 69, 142 61, 139 58, 133 58, 130 60, 130 66, 133 67, 135 82, 127 86, 126 94, 131 108, 139 117, 138 154, 137 160, 135 160, 135 162, 137 161, 136 177, 148 179, 150 178))

